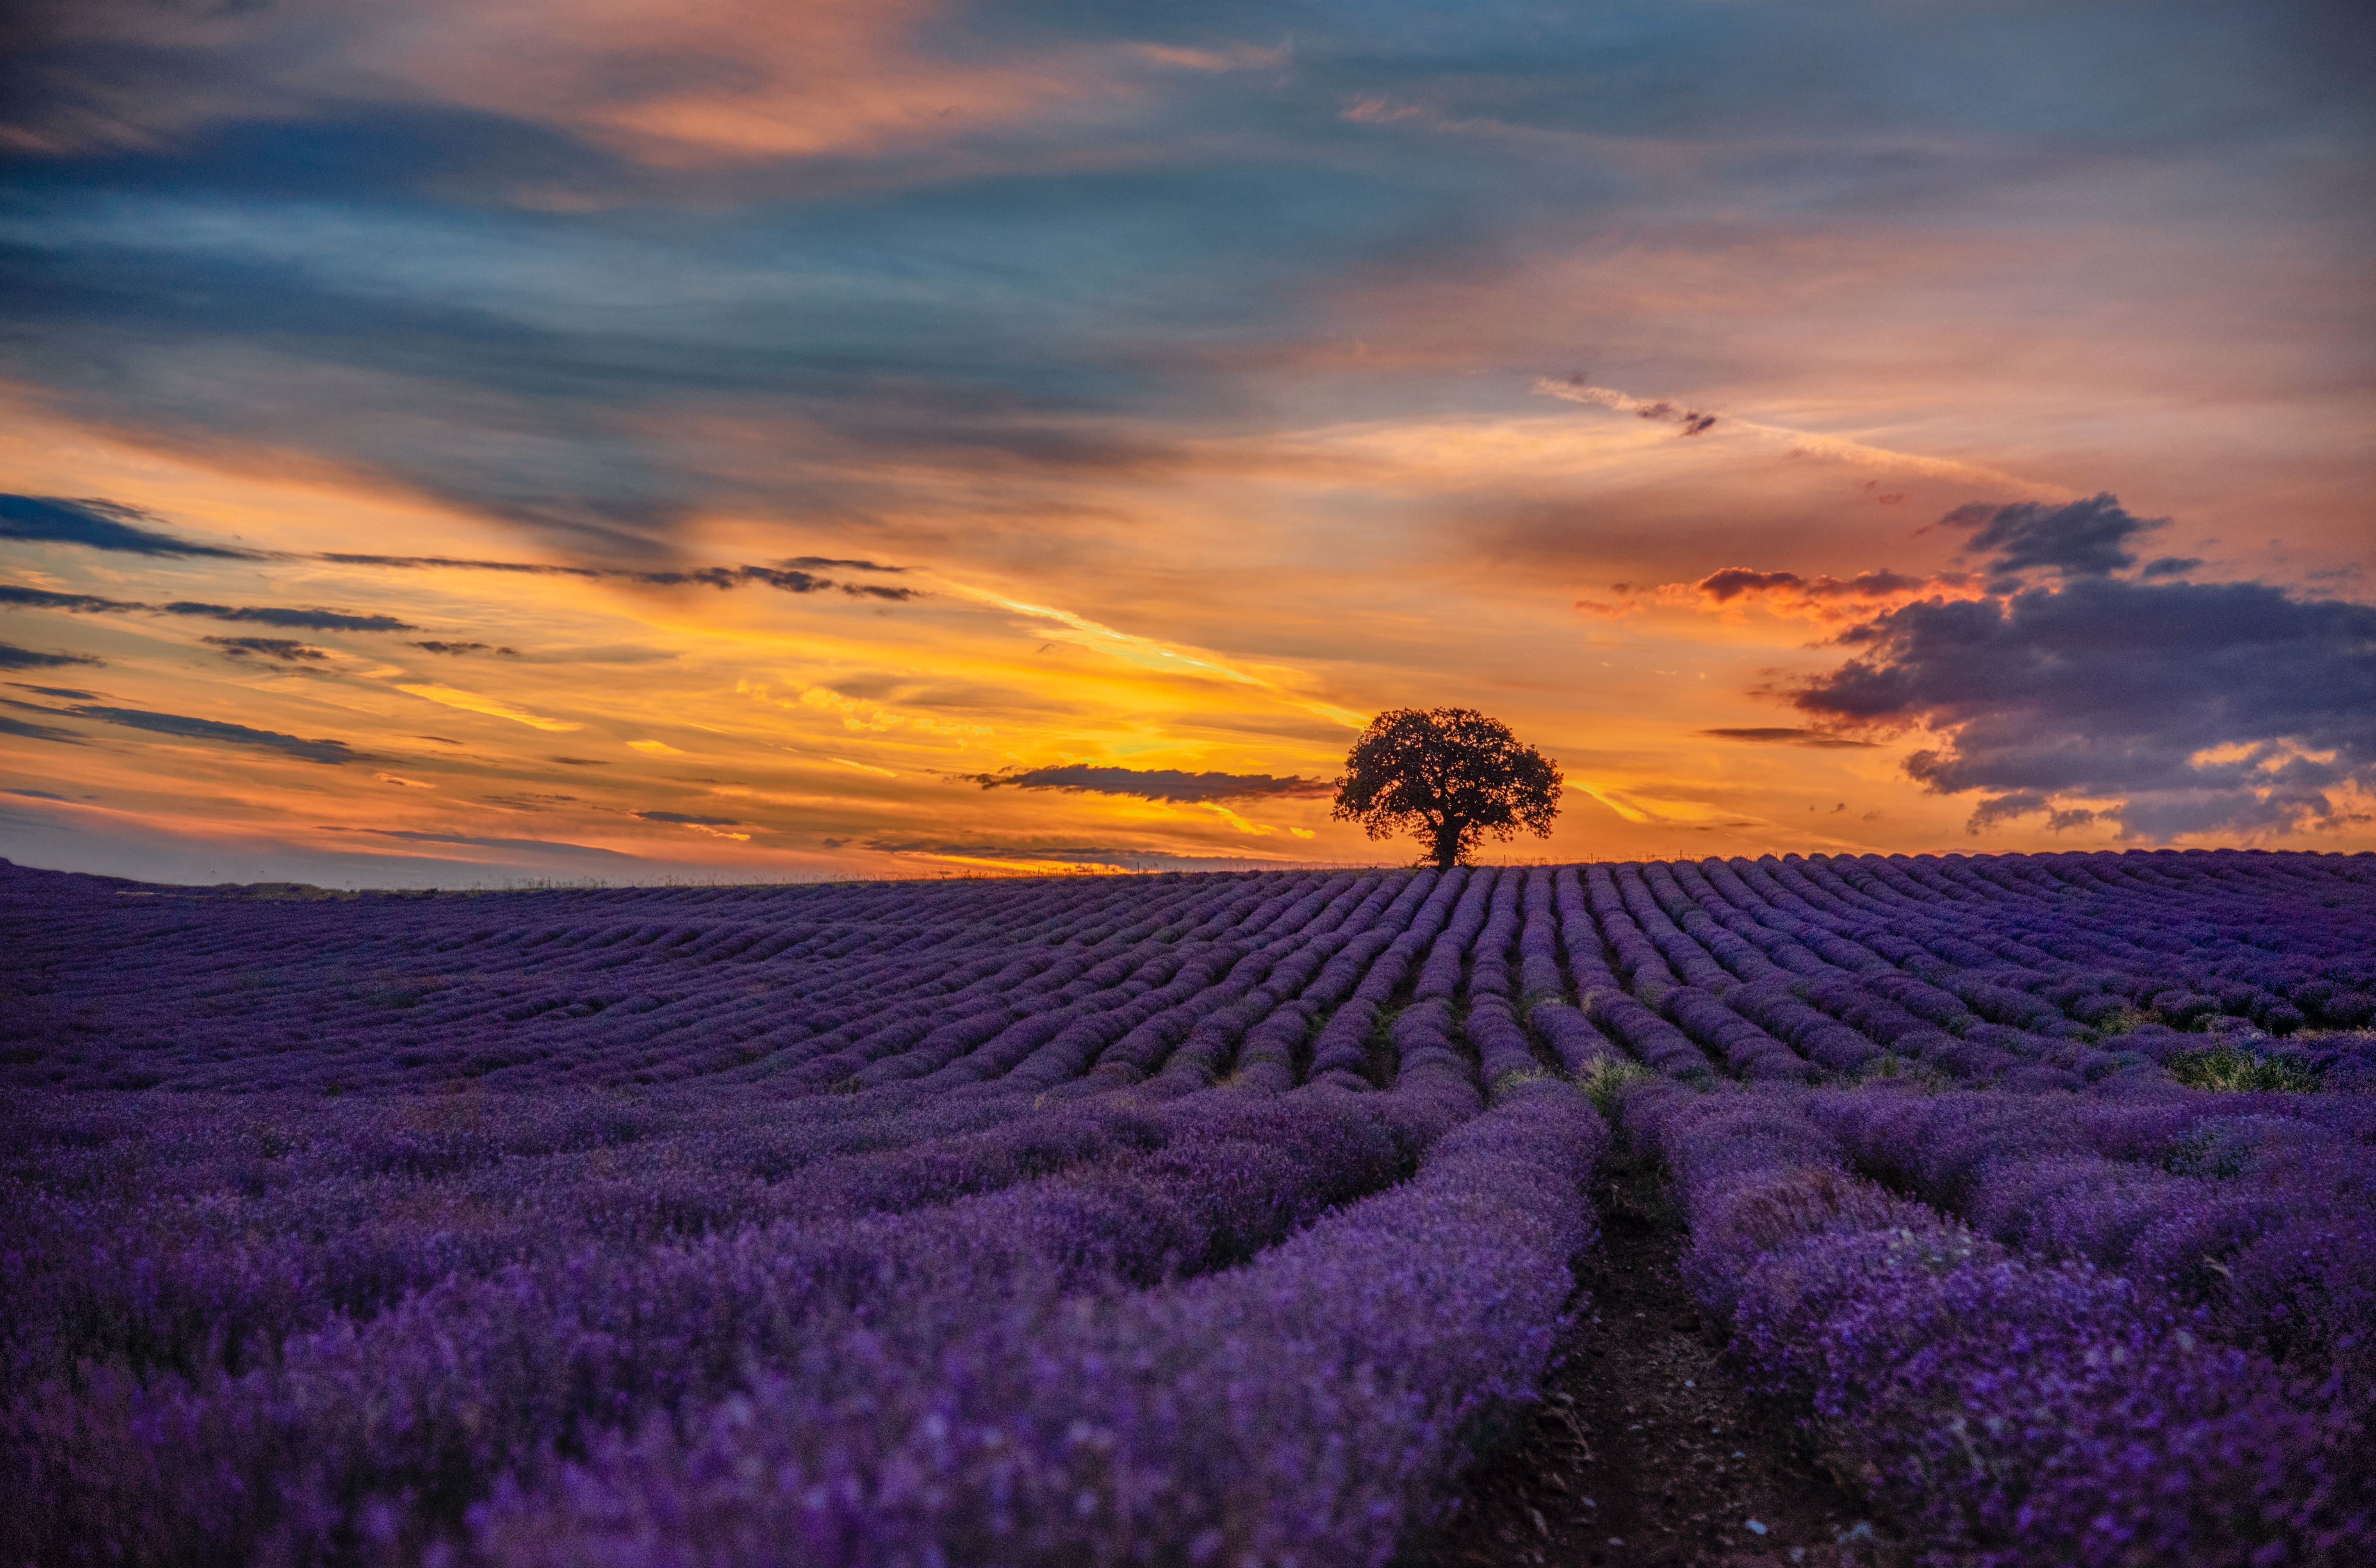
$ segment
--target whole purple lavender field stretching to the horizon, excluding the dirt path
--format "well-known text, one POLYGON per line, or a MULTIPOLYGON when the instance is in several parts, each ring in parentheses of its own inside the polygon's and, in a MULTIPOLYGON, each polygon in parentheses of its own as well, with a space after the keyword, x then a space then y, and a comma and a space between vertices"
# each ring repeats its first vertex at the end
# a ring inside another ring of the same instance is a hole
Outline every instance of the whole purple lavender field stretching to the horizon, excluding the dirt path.
POLYGON ((1506 1561, 2376 1561, 2369 855, 0 898, 7 1566, 1435 1561, 1616 1162, 1875 1525, 1506 1561))

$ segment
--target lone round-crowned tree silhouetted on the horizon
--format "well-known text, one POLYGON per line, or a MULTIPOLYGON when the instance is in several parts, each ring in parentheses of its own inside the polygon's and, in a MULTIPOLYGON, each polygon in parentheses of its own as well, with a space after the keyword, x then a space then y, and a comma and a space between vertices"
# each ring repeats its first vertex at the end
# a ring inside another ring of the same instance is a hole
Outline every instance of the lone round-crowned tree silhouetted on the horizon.
POLYGON ((1506 841, 1525 827, 1549 839, 1559 763, 1475 708, 1395 708, 1352 744, 1335 791, 1331 815, 1371 839, 1411 834, 1449 870, 1485 834, 1506 841))

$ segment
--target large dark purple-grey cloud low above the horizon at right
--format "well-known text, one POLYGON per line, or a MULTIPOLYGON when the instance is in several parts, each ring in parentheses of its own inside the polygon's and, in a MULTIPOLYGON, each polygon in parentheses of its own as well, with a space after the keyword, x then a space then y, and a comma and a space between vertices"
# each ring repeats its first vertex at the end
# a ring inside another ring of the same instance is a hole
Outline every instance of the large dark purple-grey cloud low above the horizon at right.
POLYGON ((2362 603, 2081 575, 1910 603, 1841 641, 1865 653, 1794 706, 1934 729, 1944 744, 1906 770, 1934 794, 1986 791, 1974 829, 2081 796, 2115 798, 2100 815, 2129 836, 2288 832, 2336 820, 2336 789, 2376 786, 2376 608, 2362 603))

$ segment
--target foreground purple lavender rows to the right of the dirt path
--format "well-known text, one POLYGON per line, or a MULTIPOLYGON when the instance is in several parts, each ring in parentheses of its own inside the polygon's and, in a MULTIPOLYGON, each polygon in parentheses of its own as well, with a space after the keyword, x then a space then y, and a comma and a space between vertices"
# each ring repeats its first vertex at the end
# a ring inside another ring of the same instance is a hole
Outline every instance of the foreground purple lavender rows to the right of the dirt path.
POLYGON ((1927 1563, 2376 1561, 2376 1102, 1623 1095, 1685 1273, 1927 1563))

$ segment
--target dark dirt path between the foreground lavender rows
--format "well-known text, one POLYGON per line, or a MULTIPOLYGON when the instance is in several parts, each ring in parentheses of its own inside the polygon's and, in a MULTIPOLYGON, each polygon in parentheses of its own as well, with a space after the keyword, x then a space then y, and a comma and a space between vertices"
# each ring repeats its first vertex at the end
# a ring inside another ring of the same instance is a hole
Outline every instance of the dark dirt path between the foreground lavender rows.
POLYGON ((1903 1551, 1753 1409, 1675 1269, 1663 1174, 1613 1155, 1597 1183, 1592 1314, 1523 1430, 1471 1480, 1416 1568, 1889 1568, 1903 1551))

